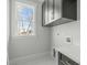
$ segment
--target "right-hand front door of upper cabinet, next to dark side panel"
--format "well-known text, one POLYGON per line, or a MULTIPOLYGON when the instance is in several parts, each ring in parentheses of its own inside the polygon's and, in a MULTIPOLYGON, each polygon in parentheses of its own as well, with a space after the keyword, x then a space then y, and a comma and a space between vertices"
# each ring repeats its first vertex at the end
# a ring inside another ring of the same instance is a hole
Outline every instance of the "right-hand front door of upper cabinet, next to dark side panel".
POLYGON ((62 0, 48 0, 48 22, 62 18, 62 0))

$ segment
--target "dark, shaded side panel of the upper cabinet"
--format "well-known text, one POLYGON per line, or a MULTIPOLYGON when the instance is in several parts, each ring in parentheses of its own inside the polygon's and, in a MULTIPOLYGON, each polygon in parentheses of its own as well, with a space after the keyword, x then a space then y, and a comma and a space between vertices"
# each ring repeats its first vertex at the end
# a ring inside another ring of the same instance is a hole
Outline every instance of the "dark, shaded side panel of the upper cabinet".
POLYGON ((77 0, 63 0, 63 18, 77 20, 77 0))

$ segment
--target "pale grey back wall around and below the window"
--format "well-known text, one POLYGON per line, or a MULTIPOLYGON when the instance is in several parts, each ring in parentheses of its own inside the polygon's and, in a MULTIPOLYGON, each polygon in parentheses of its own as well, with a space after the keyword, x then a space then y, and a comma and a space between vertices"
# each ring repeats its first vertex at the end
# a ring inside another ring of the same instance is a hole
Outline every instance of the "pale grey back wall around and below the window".
MULTIPOLYGON (((12 7, 13 8, 13 7, 12 7)), ((14 11, 12 12, 14 13, 14 11)), ((33 36, 14 36, 13 32, 13 18, 11 18, 11 40, 9 44, 10 59, 23 57, 36 53, 50 52, 51 39, 50 28, 42 26, 42 6, 36 6, 36 25, 35 35, 33 36)))

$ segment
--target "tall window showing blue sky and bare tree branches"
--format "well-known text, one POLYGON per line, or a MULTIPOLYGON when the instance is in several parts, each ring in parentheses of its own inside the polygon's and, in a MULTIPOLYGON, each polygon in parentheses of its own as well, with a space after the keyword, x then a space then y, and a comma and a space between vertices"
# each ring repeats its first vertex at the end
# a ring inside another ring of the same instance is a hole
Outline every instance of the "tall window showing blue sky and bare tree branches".
POLYGON ((17 2, 17 22, 19 35, 35 34, 35 9, 31 4, 17 2))

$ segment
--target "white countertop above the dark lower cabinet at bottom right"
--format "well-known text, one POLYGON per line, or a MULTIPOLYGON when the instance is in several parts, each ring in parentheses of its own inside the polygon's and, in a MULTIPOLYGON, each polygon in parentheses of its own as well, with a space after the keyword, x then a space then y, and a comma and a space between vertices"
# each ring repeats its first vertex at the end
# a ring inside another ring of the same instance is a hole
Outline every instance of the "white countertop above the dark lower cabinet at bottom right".
POLYGON ((59 45, 59 47, 55 46, 55 50, 80 64, 80 46, 65 44, 59 45))

